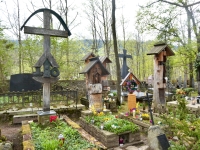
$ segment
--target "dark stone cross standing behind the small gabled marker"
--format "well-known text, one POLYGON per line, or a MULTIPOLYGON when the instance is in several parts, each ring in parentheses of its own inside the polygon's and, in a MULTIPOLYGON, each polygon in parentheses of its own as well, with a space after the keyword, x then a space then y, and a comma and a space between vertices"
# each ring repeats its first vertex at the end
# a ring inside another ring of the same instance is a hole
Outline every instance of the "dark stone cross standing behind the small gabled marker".
POLYGON ((123 49, 123 54, 118 54, 119 57, 123 58, 123 64, 122 64, 122 69, 121 69, 122 79, 124 79, 126 77, 126 75, 128 74, 128 70, 129 70, 129 67, 126 64, 126 58, 132 58, 131 55, 126 54, 126 51, 127 50, 123 49))

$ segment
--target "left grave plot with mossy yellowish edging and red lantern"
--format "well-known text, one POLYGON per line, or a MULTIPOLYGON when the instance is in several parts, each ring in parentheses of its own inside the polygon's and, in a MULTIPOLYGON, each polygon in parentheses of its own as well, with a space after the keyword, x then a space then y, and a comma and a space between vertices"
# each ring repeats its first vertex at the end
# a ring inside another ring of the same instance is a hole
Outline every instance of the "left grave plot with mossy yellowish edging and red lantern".
POLYGON ((43 150, 80 150, 98 148, 68 125, 64 120, 51 117, 48 124, 24 123, 22 125, 23 148, 43 150))

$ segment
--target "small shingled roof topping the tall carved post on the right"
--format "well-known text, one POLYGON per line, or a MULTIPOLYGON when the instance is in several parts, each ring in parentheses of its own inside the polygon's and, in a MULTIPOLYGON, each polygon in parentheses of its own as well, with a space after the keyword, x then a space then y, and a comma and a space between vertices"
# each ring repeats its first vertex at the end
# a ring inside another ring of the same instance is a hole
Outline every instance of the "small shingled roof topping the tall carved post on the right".
POLYGON ((157 55, 163 50, 166 50, 167 56, 175 55, 174 52, 170 49, 170 47, 167 46, 167 44, 163 42, 154 44, 154 47, 147 53, 147 55, 157 55))

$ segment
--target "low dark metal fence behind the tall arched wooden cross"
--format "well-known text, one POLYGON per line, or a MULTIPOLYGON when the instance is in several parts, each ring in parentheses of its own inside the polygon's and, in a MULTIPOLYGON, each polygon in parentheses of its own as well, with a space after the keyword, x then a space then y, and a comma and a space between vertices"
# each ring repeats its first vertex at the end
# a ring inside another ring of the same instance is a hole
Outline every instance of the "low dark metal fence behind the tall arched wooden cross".
MULTIPOLYGON (((30 106, 30 103, 32 103, 33 106, 42 107, 42 94, 42 90, 0 93, 0 107, 1 109, 13 106, 26 108, 27 106, 30 106)), ((78 90, 66 89, 61 91, 51 91, 50 102, 51 104, 63 104, 67 106, 75 104, 77 108, 78 90)))

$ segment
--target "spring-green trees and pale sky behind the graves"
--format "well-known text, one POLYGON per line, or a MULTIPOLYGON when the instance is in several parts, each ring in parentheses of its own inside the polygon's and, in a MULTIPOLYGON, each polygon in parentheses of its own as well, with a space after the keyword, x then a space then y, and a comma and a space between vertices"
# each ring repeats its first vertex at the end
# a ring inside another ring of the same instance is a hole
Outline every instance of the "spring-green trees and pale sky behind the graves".
MULTIPOLYGON (((84 79, 79 75, 84 67, 81 59, 88 52, 93 52, 96 56, 109 57, 112 61, 108 68, 110 79, 116 80, 112 2, 1 0, 0 86, 12 74, 35 71, 33 66, 43 53, 43 38, 24 34, 20 27, 40 8, 49 8, 60 14, 72 32, 68 39, 51 38, 51 53, 60 66, 60 79, 84 79)), ((200 1, 142 0, 131 3, 129 0, 117 0, 115 6, 117 51, 123 53, 123 49, 126 49, 127 54, 132 55, 133 59, 127 59, 127 64, 138 79, 145 81, 153 74, 153 56, 146 54, 155 43, 163 41, 175 52, 175 56, 169 57, 166 63, 169 81, 176 82, 181 76, 192 86, 192 80, 198 80, 200 1)), ((27 25, 42 27, 42 24, 41 13, 27 25)), ((54 16, 51 18, 51 28, 63 30, 54 16)))

